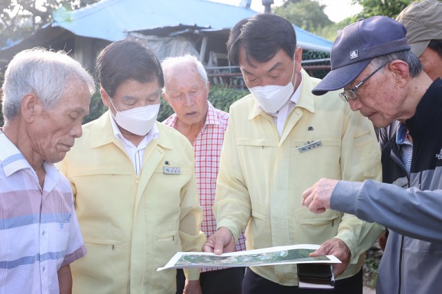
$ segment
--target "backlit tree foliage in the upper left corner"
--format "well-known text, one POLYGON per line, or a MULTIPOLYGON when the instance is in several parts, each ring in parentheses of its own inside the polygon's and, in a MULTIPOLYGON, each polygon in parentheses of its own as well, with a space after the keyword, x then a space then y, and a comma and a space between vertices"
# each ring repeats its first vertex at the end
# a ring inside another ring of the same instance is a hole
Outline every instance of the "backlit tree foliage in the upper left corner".
POLYGON ((0 0, 0 46, 28 37, 52 21, 52 12, 74 10, 98 0, 0 0))

